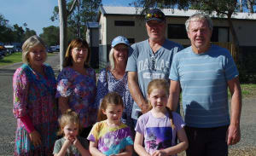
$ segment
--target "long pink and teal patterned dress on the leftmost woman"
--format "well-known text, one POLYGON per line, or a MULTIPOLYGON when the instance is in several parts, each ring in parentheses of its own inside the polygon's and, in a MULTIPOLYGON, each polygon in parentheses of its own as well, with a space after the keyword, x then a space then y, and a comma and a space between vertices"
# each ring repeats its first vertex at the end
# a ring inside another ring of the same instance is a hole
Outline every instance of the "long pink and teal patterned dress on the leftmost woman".
POLYGON ((56 139, 57 107, 55 75, 50 66, 43 65, 45 76, 26 64, 14 74, 14 109, 17 118, 15 155, 51 155, 56 139), (41 136, 42 144, 34 147, 21 117, 28 115, 41 136))

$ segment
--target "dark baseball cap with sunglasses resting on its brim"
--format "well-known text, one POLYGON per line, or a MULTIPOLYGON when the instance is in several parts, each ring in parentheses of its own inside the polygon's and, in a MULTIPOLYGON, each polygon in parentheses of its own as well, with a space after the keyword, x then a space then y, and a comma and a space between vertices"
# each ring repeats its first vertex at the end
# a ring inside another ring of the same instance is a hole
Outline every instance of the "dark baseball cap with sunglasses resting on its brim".
POLYGON ((166 15, 160 9, 150 9, 145 16, 146 22, 149 20, 165 21, 166 15))

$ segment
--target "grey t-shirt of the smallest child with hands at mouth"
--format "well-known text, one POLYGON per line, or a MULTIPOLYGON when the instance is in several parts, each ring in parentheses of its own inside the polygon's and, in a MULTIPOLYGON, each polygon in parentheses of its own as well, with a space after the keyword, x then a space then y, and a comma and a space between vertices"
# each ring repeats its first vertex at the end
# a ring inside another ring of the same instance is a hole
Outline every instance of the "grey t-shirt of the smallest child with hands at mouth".
MULTIPOLYGON (((55 142, 53 154, 59 153, 61 151, 61 147, 64 144, 65 140, 66 139, 62 137, 61 139, 55 142)), ((88 145, 88 142, 85 140, 85 138, 78 136, 78 140, 85 149, 88 149, 89 145, 88 145)), ((70 155, 79 156, 82 154, 79 153, 79 149, 77 147, 75 147, 74 145, 71 145, 70 147, 67 148, 67 153, 66 153, 66 156, 70 156, 70 155)))

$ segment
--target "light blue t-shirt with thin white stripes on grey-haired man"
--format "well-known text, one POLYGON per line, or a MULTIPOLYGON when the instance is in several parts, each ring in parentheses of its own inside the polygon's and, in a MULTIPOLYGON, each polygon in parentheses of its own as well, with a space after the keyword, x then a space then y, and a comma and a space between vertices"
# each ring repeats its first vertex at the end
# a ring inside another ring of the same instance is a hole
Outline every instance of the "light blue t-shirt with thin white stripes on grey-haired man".
POLYGON ((237 76, 230 52, 217 45, 202 54, 191 47, 177 53, 170 79, 181 84, 185 123, 198 128, 230 124, 227 87, 237 76))

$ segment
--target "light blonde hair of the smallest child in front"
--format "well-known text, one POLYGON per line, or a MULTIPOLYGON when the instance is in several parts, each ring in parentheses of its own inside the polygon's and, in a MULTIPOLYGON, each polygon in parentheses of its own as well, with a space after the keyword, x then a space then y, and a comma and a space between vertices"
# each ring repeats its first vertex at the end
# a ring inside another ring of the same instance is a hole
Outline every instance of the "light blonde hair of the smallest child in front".
POLYGON ((61 115, 61 118, 59 119, 59 124, 60 124, 60 130, 57 132, 58 136, 62 136, 64 131, 63 128, 67 124, 77 124, 78 128, 80 130, 80 119, 79 115, 72 111, 71 109, 67 109, 66 113, 61 115))

